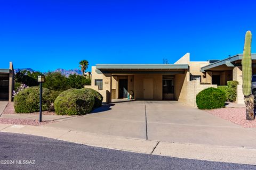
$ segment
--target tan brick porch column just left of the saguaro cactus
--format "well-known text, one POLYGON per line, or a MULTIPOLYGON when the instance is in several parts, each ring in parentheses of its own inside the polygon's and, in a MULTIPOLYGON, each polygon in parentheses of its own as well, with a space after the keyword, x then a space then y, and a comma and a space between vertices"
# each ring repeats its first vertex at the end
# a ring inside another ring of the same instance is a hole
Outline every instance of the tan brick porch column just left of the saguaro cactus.
POLYGON ((243 77, 242 77, 242 66, 235 66, 233 69, 233 80, 238 81, 238 85, 236 86, 236 103, 243 104, 244 103, 244 95, 243 95, 243 77))

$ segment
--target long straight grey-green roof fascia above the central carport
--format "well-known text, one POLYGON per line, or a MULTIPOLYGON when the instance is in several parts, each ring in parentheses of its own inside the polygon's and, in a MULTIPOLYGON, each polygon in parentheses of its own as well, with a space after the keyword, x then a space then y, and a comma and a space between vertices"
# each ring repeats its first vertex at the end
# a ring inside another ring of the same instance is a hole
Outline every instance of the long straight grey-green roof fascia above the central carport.
POLYGON ((170 70, 188 69, 188 64, 96 64, 99 70, 170 70))

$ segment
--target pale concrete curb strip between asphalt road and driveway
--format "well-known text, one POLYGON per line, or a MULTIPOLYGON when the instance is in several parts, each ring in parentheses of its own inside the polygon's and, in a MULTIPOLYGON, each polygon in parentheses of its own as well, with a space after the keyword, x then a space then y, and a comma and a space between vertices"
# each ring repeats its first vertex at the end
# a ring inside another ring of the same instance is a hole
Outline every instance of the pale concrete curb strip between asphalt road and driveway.
POLYGON ((94 147, 214 162, 256 165, 256 149, 140 140, 45 126, 0 124, 0 132, 37 135, 94 147))

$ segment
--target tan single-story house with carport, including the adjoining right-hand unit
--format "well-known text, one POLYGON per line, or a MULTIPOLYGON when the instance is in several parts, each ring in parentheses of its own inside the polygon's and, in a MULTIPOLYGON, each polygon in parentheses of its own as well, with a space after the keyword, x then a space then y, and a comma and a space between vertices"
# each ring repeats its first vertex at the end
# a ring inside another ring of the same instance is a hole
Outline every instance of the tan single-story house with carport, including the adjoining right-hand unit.
MULTIPOLYGON (((92 85, 85 87, 99 91, 107 103, 119 98, 178 100, 196 107, 199 91, 236 80, 236 103, 243 103, 242 56, 193 62, 187 53, 174 64, 96 64, 92 85)), ((252 62, 256 73, 256 54, 252 54, 252 62)))

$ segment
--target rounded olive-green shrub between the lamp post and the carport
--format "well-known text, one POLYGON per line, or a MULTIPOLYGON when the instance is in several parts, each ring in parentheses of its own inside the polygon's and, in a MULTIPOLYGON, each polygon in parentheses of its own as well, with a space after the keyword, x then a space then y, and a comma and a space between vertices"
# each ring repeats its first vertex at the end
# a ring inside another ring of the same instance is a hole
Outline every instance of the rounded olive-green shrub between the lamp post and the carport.
POLYGON ((92 111, 94 96, 89 90, 68 89, 63 91, 54 101, 54 109, 58 115, 82 115, 92 111))

